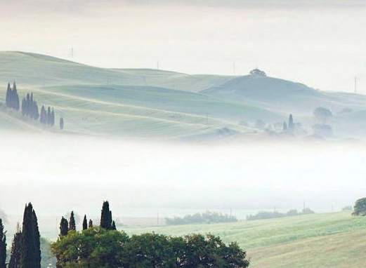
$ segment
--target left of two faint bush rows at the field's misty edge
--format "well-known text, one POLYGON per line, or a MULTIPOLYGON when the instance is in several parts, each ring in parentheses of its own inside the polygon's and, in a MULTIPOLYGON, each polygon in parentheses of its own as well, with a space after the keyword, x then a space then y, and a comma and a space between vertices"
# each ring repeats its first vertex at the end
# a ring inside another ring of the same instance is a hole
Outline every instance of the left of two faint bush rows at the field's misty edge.
POLYGON ((237 218, 232 215, 207 211, 206 213, 195 213, 184 217, 166 217, 165 222, 167 225, 189 225, 193 223, 237 222, 237 218))

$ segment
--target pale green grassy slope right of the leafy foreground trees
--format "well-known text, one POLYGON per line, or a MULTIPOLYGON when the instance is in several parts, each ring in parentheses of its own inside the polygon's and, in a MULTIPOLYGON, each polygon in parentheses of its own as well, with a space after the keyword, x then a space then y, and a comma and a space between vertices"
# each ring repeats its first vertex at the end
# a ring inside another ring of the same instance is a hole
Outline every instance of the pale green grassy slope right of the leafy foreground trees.
POLYGON ((216 225, 122 227, 128 234, 157 232, 183 235, 212 233, 237 241, 247 250, 251 267, 365 267, 366 217, 351 212, 283 217, 216 225))

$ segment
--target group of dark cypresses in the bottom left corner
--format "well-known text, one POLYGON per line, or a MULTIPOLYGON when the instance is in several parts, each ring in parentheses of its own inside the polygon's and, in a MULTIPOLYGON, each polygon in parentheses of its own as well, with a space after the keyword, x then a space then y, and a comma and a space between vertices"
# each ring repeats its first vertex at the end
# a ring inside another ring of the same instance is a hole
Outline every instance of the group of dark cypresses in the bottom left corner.
POLYGON ((0 219, 0 268, 40 268, 41 244, 37 215, 32 203, 25 205, 22 229, 17 227, 11 246, 11 256, 6 266, 6 232, 0 219))

